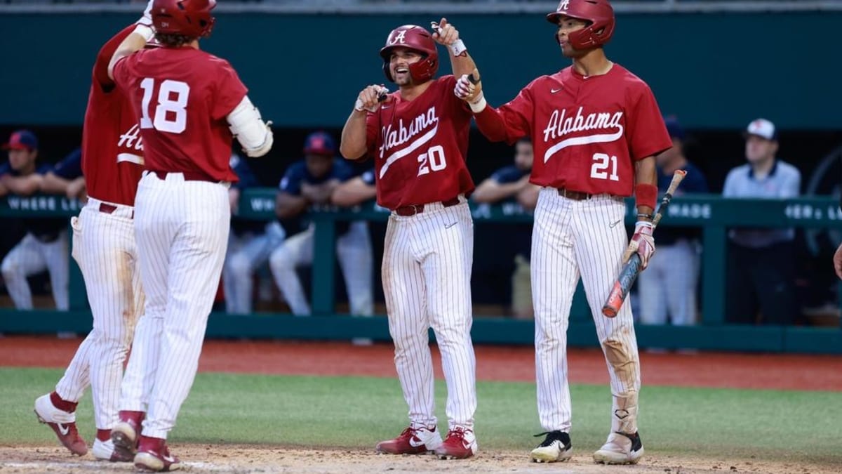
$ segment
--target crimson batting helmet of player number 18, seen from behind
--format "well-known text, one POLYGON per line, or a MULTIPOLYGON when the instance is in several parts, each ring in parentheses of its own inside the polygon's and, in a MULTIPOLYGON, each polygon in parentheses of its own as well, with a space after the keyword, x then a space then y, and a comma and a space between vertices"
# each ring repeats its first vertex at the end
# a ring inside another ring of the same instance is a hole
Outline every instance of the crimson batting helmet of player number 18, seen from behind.
POLYGON ((157 33, 206 38, 216 19, 210 10, 216 0, 155 0, 152 3, 152 24, 157 33))

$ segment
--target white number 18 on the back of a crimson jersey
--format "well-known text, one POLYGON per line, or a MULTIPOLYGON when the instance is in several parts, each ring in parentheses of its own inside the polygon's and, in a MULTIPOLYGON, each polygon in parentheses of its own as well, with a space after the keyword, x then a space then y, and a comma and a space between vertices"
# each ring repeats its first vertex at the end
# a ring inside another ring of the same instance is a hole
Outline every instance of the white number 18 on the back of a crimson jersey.
POLYGON ((155 128, 161 132, 181 133, 187 128, 187 97, 190 86, 181 81, 167 79, 158 87, 155 118, 149 118, 149 102, 155 90, 155 79, 141 81, 141 128, 155 128))

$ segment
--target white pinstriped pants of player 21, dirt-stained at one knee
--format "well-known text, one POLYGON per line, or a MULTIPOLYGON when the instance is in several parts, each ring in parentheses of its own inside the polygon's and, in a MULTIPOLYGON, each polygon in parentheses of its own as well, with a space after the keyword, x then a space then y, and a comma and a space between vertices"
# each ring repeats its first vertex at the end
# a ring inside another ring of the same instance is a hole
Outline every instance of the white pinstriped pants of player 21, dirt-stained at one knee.
POLYGON ((625 214, 626 204, 619 197, 573 201, 554 188, 543 188, 538 196, 532 230, 532 301, 538 415, 546 431, 570 431, 567 330, 581 276, 610 374, 611 431, 637 432, 640 358, 629 300, 616 318, 602 315, 628 245, 625 214))

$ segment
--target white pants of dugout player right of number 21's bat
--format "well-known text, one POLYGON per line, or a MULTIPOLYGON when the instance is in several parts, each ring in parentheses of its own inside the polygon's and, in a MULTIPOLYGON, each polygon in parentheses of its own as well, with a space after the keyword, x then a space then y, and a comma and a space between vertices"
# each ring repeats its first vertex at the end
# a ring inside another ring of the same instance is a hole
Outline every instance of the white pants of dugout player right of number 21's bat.
POLYGON ((690 240, 657 245, 646 272, 637 277, 640 322, 675 326, 695 324, 695 287, 699 282, 699 254, 690 240))

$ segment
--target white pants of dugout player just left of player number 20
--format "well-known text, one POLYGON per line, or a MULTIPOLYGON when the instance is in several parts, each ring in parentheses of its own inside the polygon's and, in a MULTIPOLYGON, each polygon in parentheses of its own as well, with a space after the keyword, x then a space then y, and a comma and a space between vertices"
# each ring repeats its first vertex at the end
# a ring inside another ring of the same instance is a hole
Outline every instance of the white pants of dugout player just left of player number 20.
MULTIPOLYGON (((312 264, 315 229, 311 224, 304 232, 290 236, 283 245, 272 252, 272 256, 269 256, 269 267, 272 269, 274 282, 294 315, 310 315, 311 312, 304 288, 301 288, 301 281, 296 274, 296 267, 312 264)), ((364 221, 350 223, 348 232, 336 240, 336 255, 345 279, 351 314, 374 314, 374 290, 371 281, 374 263, 368 224, 364 221)))

